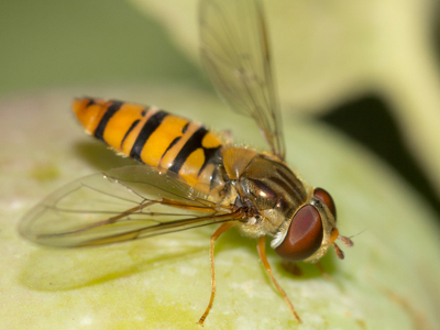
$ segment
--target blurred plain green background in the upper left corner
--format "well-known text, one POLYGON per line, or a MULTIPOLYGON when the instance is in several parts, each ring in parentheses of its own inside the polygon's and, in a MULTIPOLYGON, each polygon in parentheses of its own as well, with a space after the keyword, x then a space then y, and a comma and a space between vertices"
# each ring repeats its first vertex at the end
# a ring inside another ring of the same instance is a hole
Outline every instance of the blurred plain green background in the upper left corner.
POLYGON ((206 84, 127 1, 1 1, 0 94, 154 79, 206 84))

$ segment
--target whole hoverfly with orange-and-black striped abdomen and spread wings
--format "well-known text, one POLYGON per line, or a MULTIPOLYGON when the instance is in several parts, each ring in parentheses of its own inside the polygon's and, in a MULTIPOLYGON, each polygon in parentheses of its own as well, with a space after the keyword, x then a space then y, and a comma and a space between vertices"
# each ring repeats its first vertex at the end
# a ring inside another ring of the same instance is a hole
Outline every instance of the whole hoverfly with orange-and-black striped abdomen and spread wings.
POLYGON ((257 252, 276 288, 266 237, 285 260, 316 262, 336 240, 333 199, 308 187, 285 163, 280 112, 273 84, 266 25, 257 0, 200 1, 201 58, 218 94, 253 118, 270 151, 234 146, 206 127, 154 107, 81 98, 74 112, 86 131, 143 165, 80 178, 34 207, 20 224, 29 240, 51 246, 102 245, 220 224, 210 243, 215 299, 216 240, 237 227, 257 239, 257 252))

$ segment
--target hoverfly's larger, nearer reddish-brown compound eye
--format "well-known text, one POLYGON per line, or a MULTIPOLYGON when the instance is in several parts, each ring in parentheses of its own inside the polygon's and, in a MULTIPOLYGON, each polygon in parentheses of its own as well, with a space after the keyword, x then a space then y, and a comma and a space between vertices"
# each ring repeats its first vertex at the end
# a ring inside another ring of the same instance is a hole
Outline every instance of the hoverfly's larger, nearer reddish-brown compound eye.
POLYGON ((301 261, 321 246, 322 237, 323 229, 318 210, 312 205, 306 205, 295 213, 286 238, 275 251, 286 260, 301 261))

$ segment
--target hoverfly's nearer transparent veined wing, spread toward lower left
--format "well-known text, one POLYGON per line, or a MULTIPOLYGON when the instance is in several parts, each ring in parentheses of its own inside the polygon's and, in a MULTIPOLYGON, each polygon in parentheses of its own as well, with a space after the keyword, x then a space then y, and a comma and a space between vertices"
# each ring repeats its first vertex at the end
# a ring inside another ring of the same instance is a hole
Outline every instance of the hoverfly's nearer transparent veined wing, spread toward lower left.
POLYGON ((240 220, 241 211, 150 166, 127 166, 73 182, 34 207, 19 231, 57 248, 102 245, 240 220))

